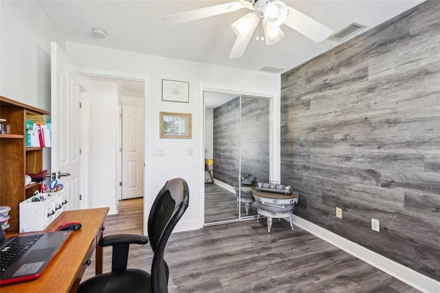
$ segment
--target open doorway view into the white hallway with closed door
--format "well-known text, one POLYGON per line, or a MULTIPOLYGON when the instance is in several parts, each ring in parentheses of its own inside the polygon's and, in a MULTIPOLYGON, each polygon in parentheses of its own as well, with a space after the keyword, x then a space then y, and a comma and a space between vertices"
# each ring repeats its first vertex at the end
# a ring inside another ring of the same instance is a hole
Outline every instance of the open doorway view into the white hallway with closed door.
POLYGON ((119 200, 144 195, 144 81, 82 78, 90 118, 89 135, 84 135, 89 140, 89 195, 99 192, 99 186, 110 185, 106 196, 114 199, 113 213, 118 213, 119 200))

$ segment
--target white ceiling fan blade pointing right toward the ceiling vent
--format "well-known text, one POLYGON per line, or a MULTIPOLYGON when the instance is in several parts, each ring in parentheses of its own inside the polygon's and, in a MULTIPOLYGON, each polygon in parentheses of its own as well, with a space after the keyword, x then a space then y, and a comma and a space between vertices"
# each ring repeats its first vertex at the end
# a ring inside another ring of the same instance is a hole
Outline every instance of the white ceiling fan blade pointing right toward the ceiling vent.
POLYGON ((331 34, 333 34, 333 30, 327 28, 327 26, 318 23, 318 21, 312 19, 311 17, 307 17, 307 15, 299 12, 298 10, 287 6, 289 10, 289 14, 287 14, 287 18, 284 21, 284 24, 293 28, 297 32, 304 34, 307 38, 319 43, 320 41, 324 41, 331 34))

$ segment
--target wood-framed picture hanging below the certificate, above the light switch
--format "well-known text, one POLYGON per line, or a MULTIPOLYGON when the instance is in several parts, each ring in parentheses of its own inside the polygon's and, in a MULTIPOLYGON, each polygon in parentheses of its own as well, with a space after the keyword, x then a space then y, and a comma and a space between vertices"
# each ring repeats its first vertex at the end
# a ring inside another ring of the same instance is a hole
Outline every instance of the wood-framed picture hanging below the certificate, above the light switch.
POLYGON ((191 138, 191 114, 160 112, 160 138, 191 138))

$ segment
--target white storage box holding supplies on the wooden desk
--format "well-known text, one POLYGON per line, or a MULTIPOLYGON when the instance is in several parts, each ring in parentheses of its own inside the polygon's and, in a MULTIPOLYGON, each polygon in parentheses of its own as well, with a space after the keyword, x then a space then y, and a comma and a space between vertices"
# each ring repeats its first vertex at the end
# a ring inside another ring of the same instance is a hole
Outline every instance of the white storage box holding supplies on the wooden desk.
POLYGON ((56 193, 39 193, 20 203, 20 232, 44 230, 67 208, 65 190, 56 193), (43 198, 33 202, 35 197, 43 198))

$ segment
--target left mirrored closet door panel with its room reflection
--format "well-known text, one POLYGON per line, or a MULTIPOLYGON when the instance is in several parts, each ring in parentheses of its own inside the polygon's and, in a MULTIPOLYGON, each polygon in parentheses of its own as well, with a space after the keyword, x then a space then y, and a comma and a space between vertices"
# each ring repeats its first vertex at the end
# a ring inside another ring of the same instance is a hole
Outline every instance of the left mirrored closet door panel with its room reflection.
POLYGON ((204 92, 205 224, 239 219, 233 180, 239 166, 239 96, 204 92), (211 161, 212 160, 212 161, 211 161), (211 164, 210 164, 211 163, 211 164), (212 179, 211 179, 212 176, 212 179))

